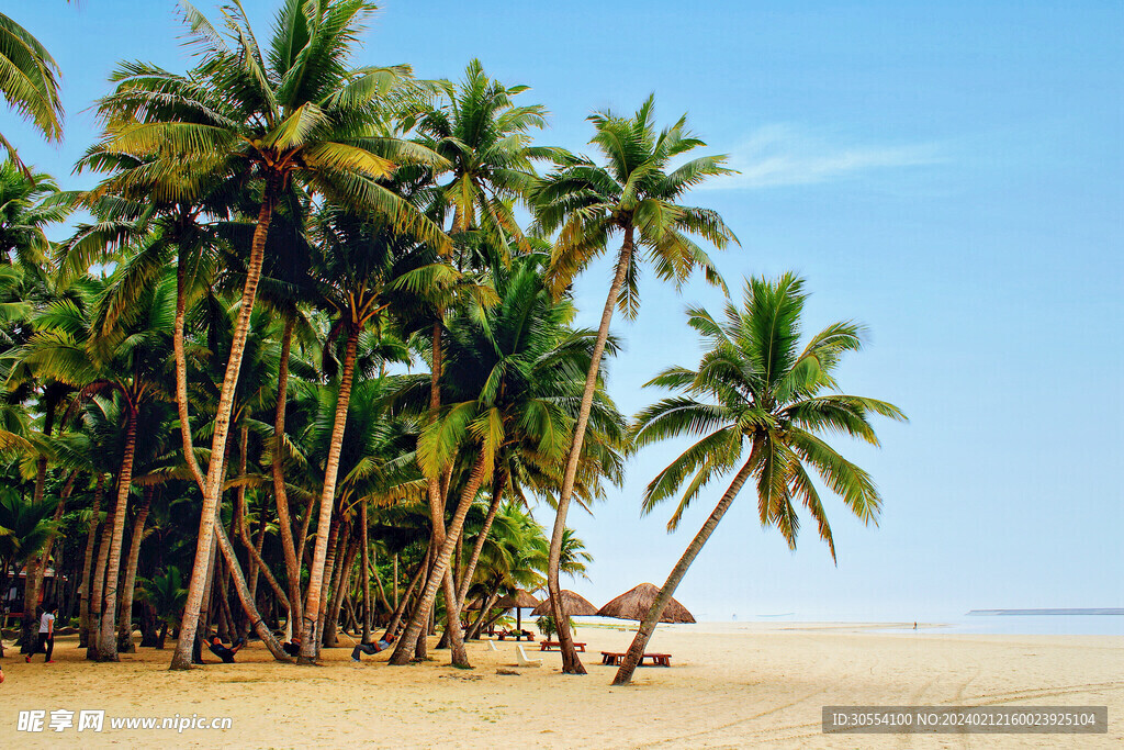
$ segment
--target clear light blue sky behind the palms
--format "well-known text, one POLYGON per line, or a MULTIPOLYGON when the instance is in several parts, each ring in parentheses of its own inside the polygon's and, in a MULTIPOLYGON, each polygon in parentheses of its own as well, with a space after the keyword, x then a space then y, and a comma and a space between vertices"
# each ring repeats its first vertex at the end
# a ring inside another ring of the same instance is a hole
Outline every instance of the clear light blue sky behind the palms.
MULTIPOLYGON (((265 37, 274 0, 245 4, 265 37)), ((6 12, 62 66, 67 119, 61 146, 7 110, 2 132, 87 187, 70 172, 115 63, 190 64, 174 4, 6 12)), ((677 594, 698 620, 1124 606, 1124 4, 387 0, 363 39, 357 63, 423 78, 457 79, 479 57, 551 111, 541 143, 574 151, 591 111, 631 114, 654 92, 661 123, 687 112, 699 153, 741 172, 688 198, 741 240, 714 253, 732 292, 792 270, 812 292, 807 332, 869 327, 839 380, 909 423, 876 423, 881 449, 833 443, 878 481, 878 526, 825 499, 835 564, 809 519, 789 551, 743 494, 677 594)), ((596 325, 608 282, 606 262, 579 280, 581 323, 596 325)), ((697 364, 685 307, 723 304, 699 279, 677 295, 647 274, 641 290, 638 318, 613 327, 626 350, 609 388, 626 414, 662 396, 642 388, 659 370, 697 364)), ((646 449, 592 516, 571 514, 595 558, 572 588, 593 603, 662 584, 720 496, 710 486, 674 534, 670 505, 641 516, 644 485, 682 446, 646 449)))

